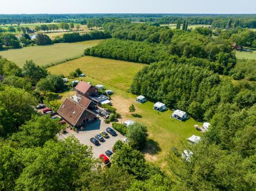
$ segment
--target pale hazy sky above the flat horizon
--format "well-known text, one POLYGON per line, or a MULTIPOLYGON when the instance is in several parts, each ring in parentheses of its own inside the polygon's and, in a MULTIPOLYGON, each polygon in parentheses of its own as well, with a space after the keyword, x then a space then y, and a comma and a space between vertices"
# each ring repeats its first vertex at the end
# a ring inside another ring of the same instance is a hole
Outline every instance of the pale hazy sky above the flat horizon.
POLYGON ((256 13, 256 0, 0 0, 0 14, 256 13))

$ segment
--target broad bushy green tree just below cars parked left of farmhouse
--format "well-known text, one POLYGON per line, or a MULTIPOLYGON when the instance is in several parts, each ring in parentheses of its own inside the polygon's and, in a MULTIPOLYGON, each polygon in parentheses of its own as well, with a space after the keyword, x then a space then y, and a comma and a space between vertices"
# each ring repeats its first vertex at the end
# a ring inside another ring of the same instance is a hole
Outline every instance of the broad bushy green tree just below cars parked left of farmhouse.
POLYGON ((11 139, 23 148, 42 147, 46 141, 57 139, 56 134, 60 130, 61 125, 51 120, 50 115, 34 115, 19 127, 19 131, 14 133, 11 139))

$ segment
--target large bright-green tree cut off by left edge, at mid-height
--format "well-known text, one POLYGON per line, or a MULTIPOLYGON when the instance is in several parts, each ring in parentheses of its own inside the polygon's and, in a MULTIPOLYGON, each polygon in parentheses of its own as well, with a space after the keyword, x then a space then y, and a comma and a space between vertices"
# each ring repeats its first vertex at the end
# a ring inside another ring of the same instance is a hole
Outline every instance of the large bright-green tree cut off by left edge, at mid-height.
POLYGON ((25 121, 30 120, 35 112, 36 101, 24 89, 11 86, 0 91, 0 136, 14 132, 25 121))

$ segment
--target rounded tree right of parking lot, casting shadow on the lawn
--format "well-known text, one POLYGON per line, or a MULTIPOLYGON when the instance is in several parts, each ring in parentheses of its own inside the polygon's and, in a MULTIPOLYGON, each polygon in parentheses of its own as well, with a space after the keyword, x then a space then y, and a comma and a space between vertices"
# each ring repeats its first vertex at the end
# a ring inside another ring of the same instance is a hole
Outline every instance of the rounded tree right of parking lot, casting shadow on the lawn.
POLYGON ((142 149, 148 136, 147 128, 140 123, 134 123, 129 126, 126 136, 133 148, 142 149))

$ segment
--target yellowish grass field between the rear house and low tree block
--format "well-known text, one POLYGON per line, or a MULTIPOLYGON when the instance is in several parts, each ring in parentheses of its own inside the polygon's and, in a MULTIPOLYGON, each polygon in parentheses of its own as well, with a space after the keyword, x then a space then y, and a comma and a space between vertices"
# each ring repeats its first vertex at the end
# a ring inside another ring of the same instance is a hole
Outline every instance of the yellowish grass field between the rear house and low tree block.
POLYGON ((91 78, 127 91, 135 74, 144 66, 146 64, 83 56, 52 66, 48 68, 48 71, 52 74, 67 76, 70 71, 80 68, 84 74, 91 78))

